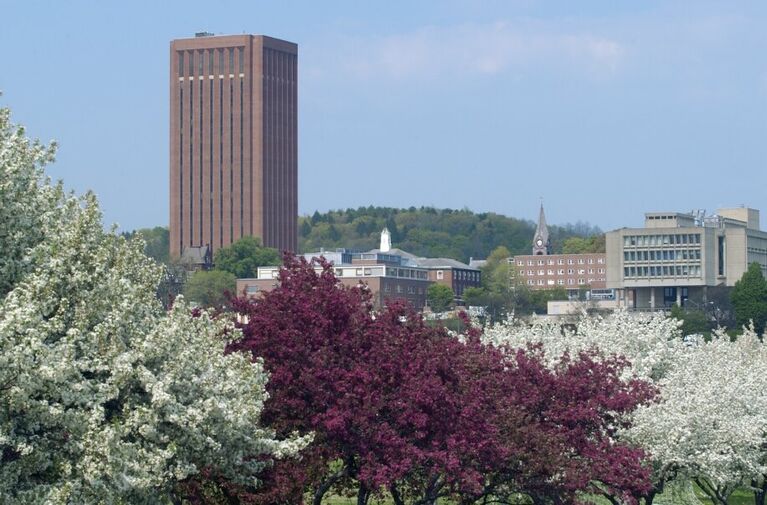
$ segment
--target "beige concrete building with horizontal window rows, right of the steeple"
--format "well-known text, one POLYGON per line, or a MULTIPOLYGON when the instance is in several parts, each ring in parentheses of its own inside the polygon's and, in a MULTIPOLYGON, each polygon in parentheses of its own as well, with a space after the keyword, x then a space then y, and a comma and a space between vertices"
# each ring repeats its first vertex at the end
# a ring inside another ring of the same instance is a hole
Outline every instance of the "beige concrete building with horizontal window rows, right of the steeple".
POLYGON ((629 308, 700 303, 709 288, 733 286, 753 262, 767 273, 767 232, 756 209, 649 212, 644 228, 607 233, 606 246, 607 287, 629 308))

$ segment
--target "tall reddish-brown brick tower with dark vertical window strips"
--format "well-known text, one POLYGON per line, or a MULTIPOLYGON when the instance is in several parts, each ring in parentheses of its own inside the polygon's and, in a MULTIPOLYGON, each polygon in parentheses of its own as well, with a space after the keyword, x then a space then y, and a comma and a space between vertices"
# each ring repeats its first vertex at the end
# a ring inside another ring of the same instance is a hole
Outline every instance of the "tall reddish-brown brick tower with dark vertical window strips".
POLYGON ((298 250, 298 46, 197 34, 170 44, 170 252, 254 235, 298 250))

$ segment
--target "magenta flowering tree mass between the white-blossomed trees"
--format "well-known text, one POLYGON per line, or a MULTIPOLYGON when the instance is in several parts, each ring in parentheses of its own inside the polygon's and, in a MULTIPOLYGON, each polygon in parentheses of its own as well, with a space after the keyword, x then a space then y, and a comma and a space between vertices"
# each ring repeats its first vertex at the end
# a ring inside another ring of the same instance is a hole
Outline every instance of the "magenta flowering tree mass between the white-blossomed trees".
POLYGON ((358 505, 451 497, 575 502, 600 493, 635 502, 649 487, 644 454, 612 435, 653 391, 620 378, 620 359, 583 354, 544 366, 426 325, 408 305, 374 313, 364 287, 342 287, 319 261, 286 257, 280 285, 241 298, 247 350, 270 372, 262 420, 279 435, 314 432, 300 461, 277 462, 241 502, 314 504, 333 490, 358 505), (315 265, 320 267, 319 273, 315 265))

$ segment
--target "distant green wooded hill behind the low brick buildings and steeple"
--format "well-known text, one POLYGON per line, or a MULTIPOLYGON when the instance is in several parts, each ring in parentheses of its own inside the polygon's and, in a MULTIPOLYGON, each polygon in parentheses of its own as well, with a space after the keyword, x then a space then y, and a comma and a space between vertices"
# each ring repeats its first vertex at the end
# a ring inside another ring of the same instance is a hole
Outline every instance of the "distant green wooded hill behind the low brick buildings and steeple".
MULTIPOLYGON (((384 227, 391 232, 394 247, 417 256, 463 262, 486 258, 498 246, 505 246, 512 254, 530 254, 535 233, 533 221, 494 212, 370 206, 299 217, 299 249, 301 252, 339 247, 374 249, 384 227)), ((598 227, 580 221, 549 225, 549 232, 555 253, 562 251, 562 244, 569 237, 602 234, 598 227)))

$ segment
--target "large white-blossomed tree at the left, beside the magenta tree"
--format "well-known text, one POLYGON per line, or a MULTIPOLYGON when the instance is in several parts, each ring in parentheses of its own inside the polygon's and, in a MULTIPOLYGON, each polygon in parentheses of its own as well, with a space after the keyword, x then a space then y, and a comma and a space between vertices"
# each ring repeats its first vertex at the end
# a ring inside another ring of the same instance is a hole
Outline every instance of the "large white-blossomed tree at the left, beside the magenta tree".
POLYGON ((183 302, 166 314, 140 241, 43 178, 52 150, 0 110, 0 503, 178 503, 202 470, 255 485, 277 440, 267 374, 183 302))

